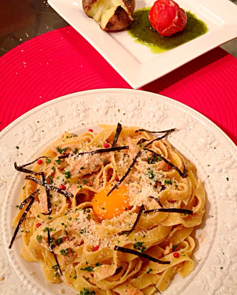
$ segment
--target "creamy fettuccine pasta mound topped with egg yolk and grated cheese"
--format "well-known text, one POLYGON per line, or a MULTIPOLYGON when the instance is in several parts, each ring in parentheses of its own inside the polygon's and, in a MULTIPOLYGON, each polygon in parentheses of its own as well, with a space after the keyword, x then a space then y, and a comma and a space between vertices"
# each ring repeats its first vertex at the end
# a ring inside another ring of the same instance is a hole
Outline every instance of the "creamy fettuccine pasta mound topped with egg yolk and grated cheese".
MULTIPOLYGON (((39 191, 21 225, 22 255, 29 262, 41 262, 48 283, 64 281, 80 295, 162 292, 176 273, 184 278, 193 270, 191 233, 205 212, 204 187, 196 179, 193 163, 166 139, 153 141, 157 136, 136 132, 138 127, 122 127, 116 147, 126 149, 88 153, 112 147, 116 126, 99 126, 99 133, 65 132, 42 152, 45 158, 33 164, 36 176, 32 177, 42 181, 40 172, 44 172, 49 185, 72 196, 50 190, 50 214, 45 187, 25 181, 21 202, 39 191), (109 194, 132 162, 128 175, 109 194), (165 210, 145 213, 153 209, 165 210), (192 214, 179 213, 180 209, 192 214), (63 276, 49 250, 48 233, 63 276), (169 264, 122 253, 115 246, 169 264)), ((13 226, 28 204, 19 210, 13 226)))

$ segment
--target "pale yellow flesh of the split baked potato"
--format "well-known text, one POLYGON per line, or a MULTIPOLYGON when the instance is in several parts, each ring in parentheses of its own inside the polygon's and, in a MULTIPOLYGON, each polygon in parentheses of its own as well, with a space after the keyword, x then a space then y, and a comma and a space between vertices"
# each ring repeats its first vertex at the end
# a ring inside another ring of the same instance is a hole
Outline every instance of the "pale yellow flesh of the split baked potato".
POLYGON ((118 6, 121 6, 132 19, 131 13, 128 11, 122 0, 98 0, 91 6, 87 15, 98 22, 101 28, 104 29, 109 19, 114 15, 118 6))

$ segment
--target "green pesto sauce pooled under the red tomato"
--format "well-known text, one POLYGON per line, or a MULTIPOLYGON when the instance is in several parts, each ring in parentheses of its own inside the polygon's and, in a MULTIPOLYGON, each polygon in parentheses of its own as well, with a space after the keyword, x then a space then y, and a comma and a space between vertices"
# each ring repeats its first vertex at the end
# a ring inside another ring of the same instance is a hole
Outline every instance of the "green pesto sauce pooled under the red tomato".
POLYGON ((208 31, 205 22, 198 19, 195 14, 186 11, 187 24, 182 32, 175 33, 169 37, 161 36, 155 29, 152 29, 148 19, 151 7, 136 10, 133 14, 133 21, 128 26, 128 33, 135 42, 142 43, 151 48, 152 53, 162 53, 173 49, 190 40, 193 40, 208 31))

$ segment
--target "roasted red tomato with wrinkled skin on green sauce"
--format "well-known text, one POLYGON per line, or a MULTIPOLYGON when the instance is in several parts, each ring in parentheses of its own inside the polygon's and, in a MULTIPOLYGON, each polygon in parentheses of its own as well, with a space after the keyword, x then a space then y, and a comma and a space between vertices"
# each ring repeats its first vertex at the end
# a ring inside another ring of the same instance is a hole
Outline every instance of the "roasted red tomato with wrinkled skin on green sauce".
POLYGON ((187 23, 185 11, 173 0, 157 0, 148 15, 153 29, 161 36, 182 31, 187 23))

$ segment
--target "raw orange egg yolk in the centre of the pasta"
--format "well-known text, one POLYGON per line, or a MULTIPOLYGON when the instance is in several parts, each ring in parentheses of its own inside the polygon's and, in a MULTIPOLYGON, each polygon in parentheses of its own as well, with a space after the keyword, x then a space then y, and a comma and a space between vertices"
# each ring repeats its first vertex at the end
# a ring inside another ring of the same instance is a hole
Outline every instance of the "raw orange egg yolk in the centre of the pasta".
POLYGON ((93 211, 100 219, 111 219, 118 216, 129 206, 128 188, 120 185, 107 196, 111 188, 110 184, 106 185, 105 189, 94 196, 93 211))

